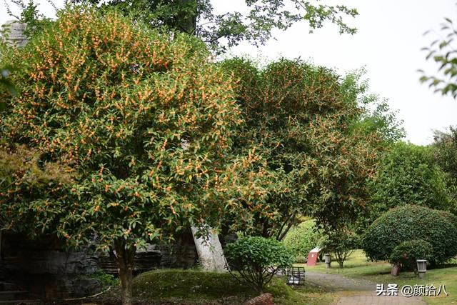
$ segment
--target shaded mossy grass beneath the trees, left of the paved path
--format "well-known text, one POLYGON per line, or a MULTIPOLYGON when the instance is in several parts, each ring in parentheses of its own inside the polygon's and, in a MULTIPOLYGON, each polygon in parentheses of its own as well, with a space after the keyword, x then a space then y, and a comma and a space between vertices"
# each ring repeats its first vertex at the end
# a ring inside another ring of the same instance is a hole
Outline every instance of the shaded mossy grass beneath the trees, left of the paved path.
MULTIPOLYGON (((275 277, 265 289, 275 304, 330 304, 333 294, 305 282, 291 288, 275 277)), ((238 283, 230 274, 199 270, 161 269, 134 279, 135 304, 243 304, 256 291, 238 283)), ((92 299, 96 304, 120 304, 119 289, 92 299)))

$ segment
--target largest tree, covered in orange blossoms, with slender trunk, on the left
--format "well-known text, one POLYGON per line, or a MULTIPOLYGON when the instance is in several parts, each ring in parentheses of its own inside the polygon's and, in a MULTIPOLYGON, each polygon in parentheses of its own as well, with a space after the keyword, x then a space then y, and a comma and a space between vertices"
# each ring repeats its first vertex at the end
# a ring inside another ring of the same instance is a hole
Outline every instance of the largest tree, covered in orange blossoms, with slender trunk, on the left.
POLYGON ((116 257, 123 304, 132 302, 137 248, 189 223, 213 224, 229 206, 221 196, 266 194, 256 186, 265 175, 248 170, 258 156, 229 158, 240 111, 231 79, 198 39, 76 7, 1 61, 18 68, 19 91, 6 98, 2 149, 23 144, 37 169, 71 171, 36 196, 22 180, 1 190, 4 227, 51 231, 76 247, 95 238, 116 257))

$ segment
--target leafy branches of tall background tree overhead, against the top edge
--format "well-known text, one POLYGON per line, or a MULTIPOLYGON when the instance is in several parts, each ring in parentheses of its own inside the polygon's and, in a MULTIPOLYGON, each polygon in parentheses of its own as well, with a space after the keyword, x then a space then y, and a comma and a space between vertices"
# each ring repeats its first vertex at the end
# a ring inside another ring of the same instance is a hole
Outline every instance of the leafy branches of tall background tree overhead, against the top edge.
POLYGON ((298 21, 307 21, 309 29, 319 29, 328 21, 341 34, 354 34, 345 17, 358 15, 344 5, 315 4, 303 0, 246 0, 245 8, 216 12, 210 0, 72 0, 73 3, 99 4, 102 9, 116 6, 124 14, 153 27, 167 26, 174 31, 196 35, 210 46, 223 51, 241 41, 264 44, 273 29, 288 29, 298 21))

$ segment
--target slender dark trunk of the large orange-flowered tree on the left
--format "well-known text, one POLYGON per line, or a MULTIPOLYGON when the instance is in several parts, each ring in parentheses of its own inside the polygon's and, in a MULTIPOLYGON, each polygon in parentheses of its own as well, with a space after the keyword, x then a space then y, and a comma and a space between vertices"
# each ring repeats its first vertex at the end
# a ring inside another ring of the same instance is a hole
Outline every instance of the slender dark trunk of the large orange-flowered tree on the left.
POLYGON ((119 271, 119 279, 121 279, 121 296, 122 305, 133 304, 133 279, 134 279, 134 257, 136 248, 132 246, 126 249, 125 241, 115 241, 114 249, 116 249, 116 261, 119 271))

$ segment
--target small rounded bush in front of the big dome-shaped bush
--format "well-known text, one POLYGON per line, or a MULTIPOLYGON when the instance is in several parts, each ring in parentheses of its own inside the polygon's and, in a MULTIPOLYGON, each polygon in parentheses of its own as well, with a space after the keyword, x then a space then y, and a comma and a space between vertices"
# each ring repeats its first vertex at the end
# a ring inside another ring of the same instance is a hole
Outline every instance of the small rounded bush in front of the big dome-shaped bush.
POLYGON ((433 247, 428 241, 422 239, 403 241, 393 249, 389 262, 416 272, 416 259, 428 261, 433 259, 433 247))

